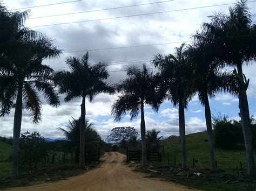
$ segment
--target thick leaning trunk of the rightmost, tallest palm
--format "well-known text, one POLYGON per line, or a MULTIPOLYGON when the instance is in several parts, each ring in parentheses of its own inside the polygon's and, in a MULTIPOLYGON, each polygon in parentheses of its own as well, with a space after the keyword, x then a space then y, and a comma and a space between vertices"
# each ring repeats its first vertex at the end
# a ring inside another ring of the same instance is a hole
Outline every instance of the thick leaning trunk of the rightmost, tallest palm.
MULTIPOLYGON (((250 122, 250 112, 248 107, 247 100, 247 86, 244 82, 244 77, 242 74, 242 64, 237 64, 238 75, 240 76, 240 80, 238 83, 239 86, 239 109, 240 109, 240 117, 242 122, 242 132, 244 134, 245 141, 245 149, 247 155, 247 167, 248 174, 254 175, 254 158, 253 158, 253 148, 252 148, 252 136, 251 136, 251 122, 250 122)), ((246 82, 247 83, 247 82, 246 82)))

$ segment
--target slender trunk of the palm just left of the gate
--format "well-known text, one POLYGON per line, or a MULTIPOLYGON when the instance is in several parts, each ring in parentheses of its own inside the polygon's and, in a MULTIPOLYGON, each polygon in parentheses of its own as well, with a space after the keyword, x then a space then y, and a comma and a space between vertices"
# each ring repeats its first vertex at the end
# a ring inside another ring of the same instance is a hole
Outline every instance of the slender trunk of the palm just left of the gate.
POLYGON ((80 116, 80 160, 79 167, 84 168, 84 144, 85 144, 85 96, 83 96, 81 104, 81 116, 80 116))

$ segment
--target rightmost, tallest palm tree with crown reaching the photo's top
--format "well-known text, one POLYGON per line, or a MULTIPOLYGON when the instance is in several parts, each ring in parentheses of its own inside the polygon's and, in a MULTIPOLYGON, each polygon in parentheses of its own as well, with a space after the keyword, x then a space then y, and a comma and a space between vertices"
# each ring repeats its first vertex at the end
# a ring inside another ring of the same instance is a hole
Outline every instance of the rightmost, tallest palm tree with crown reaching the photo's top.
POLYGON ((242 65, 252 63, 256 58, 255 35, 256 26, 252 23, 246 1, 240 1, 230 8, 229 14, 218 13, 211 16, 210 23, 203 23, 203 30, 196 34, 196 39, 205 44, 214 45, 214 55, 225 66, 236 67, 235 79, 238 82, 238 97, 242 131, 247 153, 248 174, 254 174, 254 158, 250 128, 250 113, 246 90, 249 80, 242 72, 242 65))

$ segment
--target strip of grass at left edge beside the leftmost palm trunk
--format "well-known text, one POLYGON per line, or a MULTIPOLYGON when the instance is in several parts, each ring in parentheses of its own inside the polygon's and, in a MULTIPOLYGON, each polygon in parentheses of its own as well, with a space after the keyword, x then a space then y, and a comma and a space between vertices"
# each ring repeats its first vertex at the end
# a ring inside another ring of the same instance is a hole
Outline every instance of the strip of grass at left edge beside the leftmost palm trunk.
POLYGON ((10 175, 11 162, 9 161, 9 157, 11 150, 11 145, 0 142, 0 179, 10 175))

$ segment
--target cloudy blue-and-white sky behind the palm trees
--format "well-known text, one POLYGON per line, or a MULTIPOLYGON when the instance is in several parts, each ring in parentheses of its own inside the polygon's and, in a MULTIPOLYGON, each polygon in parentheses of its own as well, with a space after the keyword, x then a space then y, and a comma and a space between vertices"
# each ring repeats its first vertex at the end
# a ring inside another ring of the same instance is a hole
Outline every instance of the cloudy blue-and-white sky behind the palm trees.
MULTIPOLYGON (((74 0, 72 2, 68 0, 3 0, 2 4, 12 11, 30 9, 31 16, 26 20, 25 26, 47 34, 55 40, 56 46, 63 49, 64 53, 58 59, 44 60, 44 64, 55 70, 68 69, 65 58, 69 56, 80 58, 89 51, 92 64, 99 61, 109 63, 110 77, 107 81, 113 84, 126 77, 126 72, 122 70, 125 70, 127 65, 134 64, 142 67, 143 63, 146 63, 147 67, 152 68, 150 59, 154 54, 174 53, 174 48, 179 47, 181 43, 189 44, 191 35, 196 30, 200 30, 201 23, 209 21, 207 16, 213 15, 214 12, 227 13, 228 6, 231 5, 221 4, 235 2, 229 0, 74 0), (55 5, 41 6, 47 4, 55 5), (138 4, 144 5, 131 6, 138 4), (31 8, 32 6, 37 7, 31 8), (130 7, 110 9, 124 6, 130 7), (127 17, 131 15, 136 16, 127 17)), ((256 2, 248 2, 248 7, 255 23, 256 2)), ((256 65, 253 63, 250 66, 244 66, 243 69, 247 78, 250 78, 247 90, 250 115, 256 116, 256 65)), ((64 96, 60 96, 59 108, 52 108, 42 96, 43 112, 42 121, 39 124, 33 125, 29 113, 23 110, 21 132, 38 131, 44 137, 64 137, 57 128, 65 129, 65 125, 72 120, 72 117, 78 118, 82 103, 80 99, 65 103, 64 96)), ((140 130, 140 116, 130 121, 127 113, 122 121, 114 122, 111 116, 111 105, 116 99, 117 95, 99 94, 92 102, 86 100, 86 119, 94 124, 103 139, 110 134, 112 128, 117 126, 133 126, 140 130)), ((210 107, 215 116, 221 114, 232 119, 240 119, 238 97, 216 94, 210 100, 210 107)), ((9 116, 0 118, 0 136, 12 136, 13 121, 14 110, 9 116)), ((198 96, 194 96, 189 103, 185 111, 185 121, 186 134, 206 130, 204 107, 200 104, 198 96)), ((178 108, 174 108, 171 102, 165 101, 156 113, 146 105, 145 123, 146 130, 160 130, 160 134, 164 137, 179 135, 178 108)))

